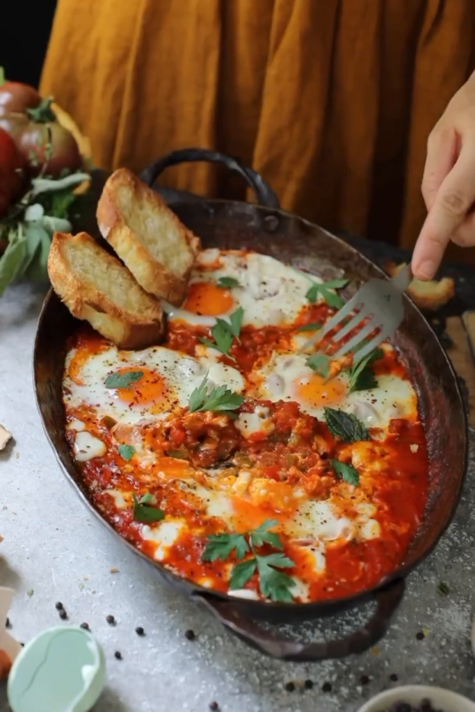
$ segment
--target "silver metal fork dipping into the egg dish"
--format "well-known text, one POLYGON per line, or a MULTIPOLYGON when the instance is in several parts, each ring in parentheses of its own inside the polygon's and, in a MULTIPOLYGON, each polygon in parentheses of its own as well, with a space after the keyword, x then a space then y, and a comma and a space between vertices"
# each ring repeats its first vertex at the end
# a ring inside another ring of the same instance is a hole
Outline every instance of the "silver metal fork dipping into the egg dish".
MULTIPOLYGON (((353 363, 357 363, 372 349, 380 345, 386 339, 390 339, 404 319, 404 304, 402 303, 402 293, 407 290, 412 282, 412 272, 410 264, 392 279, 370 279, 363 284, 353 298, 340 309, 325 326, 313 335, 301 348, 301 351, 308 350, 315 342, 325 337, 331 330, 335 329, 343 319, 350 316, 353 311, 357 313, 350 319, 348 324, 340 329, 332 337, 332 344, 336 348, 338 343, 351 331, 361 325, 362 328, 349 341, 343 344, 338 351, 332 354, 332 358, 340 358, 349 351, 355 351, 363 340, 370 334, 379 331, 370 338, 359 350, 355 352, 353 363), (368 320, 368 321, 366 321, 368 320), (364 324, 361 324, 365 322, 364 324)), ((328 346, 325 347, 325 350, 328 346)))

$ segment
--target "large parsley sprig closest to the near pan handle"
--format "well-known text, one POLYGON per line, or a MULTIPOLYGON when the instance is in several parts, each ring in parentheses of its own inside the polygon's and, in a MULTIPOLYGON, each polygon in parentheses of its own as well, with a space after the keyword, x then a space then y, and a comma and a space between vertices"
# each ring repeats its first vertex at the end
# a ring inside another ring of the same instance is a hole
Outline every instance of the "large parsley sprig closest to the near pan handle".
POLYGON ((264 544, 276 549, 283 548, 279 535, 269 531, 277 524, 276 520, 271 519, 263 522, 257 529, 244 534, 212 534, 208 537, 202 560, 214 561, 219 558, 224 561, 233 551, 236 553, 237 559, 244 559, 246 554, 251 551, 253 554, 251 558, 234 565, 229 579, 229 587, 233 590, 242 588, 257 570, 259 589, 264 597, 273 601, 291 602, 293 600, 291 588, 295 582, 278 569, 292 567, 295 565, 294 562, 281 551, 268 555, 256 552, 256 548, 260 548, 264 544))

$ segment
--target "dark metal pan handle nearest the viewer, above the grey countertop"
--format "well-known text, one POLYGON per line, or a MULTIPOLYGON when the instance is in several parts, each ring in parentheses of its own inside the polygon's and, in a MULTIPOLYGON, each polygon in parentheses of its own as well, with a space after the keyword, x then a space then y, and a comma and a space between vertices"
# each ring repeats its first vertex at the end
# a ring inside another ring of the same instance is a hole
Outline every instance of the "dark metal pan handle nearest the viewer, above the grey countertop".
POLYGON ((261 653, 278 660, 316 662, 343 658, 362 653, 375 645, 386 633, 392 614, 404 594, 404 579, 399 579, 375 593, 376 610, 365 627, 345 638, 321 643, 306 643, 279 637, 262 629, 249 618, 239 614, 234 602, 194 594, 193 598, 212 612, 227 629, 261 653))

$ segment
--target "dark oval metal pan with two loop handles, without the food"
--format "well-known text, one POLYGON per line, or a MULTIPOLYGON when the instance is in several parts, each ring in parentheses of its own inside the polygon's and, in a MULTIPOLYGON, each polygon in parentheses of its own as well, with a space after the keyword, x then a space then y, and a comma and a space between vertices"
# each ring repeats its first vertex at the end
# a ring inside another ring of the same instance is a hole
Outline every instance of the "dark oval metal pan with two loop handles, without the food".
MULTIPOLYGON (((152 164, 142 179, 152 185, 167 167, 184 161, 207 160, 238 172, 254 189, 259 205, 238 201, 199 199, 190 194, 163 192, 174 211, 205 247, 243 248, 267 253, 283 262, 306 267, 325 278, 350 278, 353 291, 370 277, 382 277, 377 266, 354 248, 320 227, 279 209, 276 194, 251 169, 230 157, 209 150, 175 151, 152 164)), ((350 290, 351 292, 351 290, 350 290)), ((339 658, 362 652, 386 632, 404 592, 404 577, 434 548, 449 524, 459 500, 466 470, 467 434, 464 407, 456 376, 437 337, 419 310, 404 298, 406 317, 395 337, 417 384, 422 418, 429 444, 430 487, 424 518, 402 565, 372 590, 345 599, 306 604, 263 603, 238 600, 213 592, 177 577, 125 542, 154 566, 163 579, 205 607, 231 632, 263 653, 293 661, 339 658), (308 643, 278 635, 256 621, 298 622, 335 614, 343 609, 375 600, 376 609, 365 627, 343 639, 308 643)), ((88 500, 65 439, 61 379, 68 336, 77 327, 56 295, 48 293, 38 322, 33 355, 36 402, 46 435, 64 473, 75 490, 103 523, 100 511, 88 500)), ((119 536, 118 533, 115 533, 119 536)))

